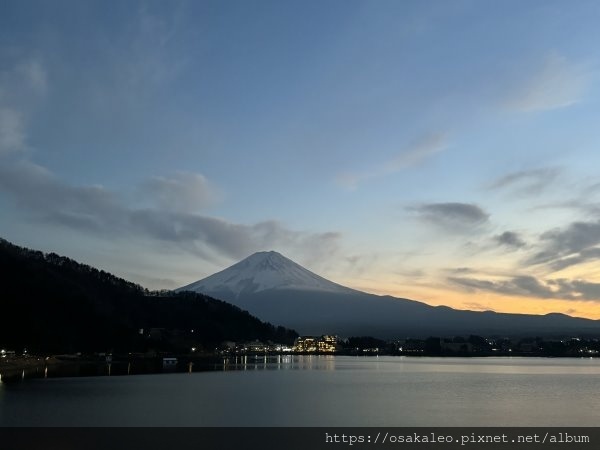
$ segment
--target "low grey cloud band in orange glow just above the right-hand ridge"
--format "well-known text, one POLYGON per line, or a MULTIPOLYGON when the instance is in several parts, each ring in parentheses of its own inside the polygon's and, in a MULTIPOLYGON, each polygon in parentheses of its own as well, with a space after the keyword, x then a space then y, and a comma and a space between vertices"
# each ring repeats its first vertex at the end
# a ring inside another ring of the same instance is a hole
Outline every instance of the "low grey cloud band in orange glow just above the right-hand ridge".
POLYGON ((541 299, 600 301, 600 283, 584 280, 555 279, 542 282, 522 275, 504 280, 449 277, 448 281, 469 292, 488 291, 501 295, 541 299))

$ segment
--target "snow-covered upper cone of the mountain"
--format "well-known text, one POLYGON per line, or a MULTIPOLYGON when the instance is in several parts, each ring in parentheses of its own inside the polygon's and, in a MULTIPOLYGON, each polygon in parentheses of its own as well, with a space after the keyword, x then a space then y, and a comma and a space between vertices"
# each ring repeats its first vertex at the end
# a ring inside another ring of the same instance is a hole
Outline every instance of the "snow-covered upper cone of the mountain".
POLYGON ((280 253, 258 252, 178 291, 231 292, 236 297, 270 289, 352 293, 353 289, 326 280, 280 253))

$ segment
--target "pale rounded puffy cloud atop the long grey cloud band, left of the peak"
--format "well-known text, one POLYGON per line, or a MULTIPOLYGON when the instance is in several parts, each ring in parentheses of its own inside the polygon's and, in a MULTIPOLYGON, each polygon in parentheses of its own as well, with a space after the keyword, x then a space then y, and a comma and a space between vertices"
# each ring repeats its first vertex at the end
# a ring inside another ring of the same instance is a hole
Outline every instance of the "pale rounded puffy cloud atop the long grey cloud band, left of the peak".
POLYGON ((204 175, 176 172, 143 183, 142 197, 163 210, 195 212, 215 203, 221 194, 204 175))

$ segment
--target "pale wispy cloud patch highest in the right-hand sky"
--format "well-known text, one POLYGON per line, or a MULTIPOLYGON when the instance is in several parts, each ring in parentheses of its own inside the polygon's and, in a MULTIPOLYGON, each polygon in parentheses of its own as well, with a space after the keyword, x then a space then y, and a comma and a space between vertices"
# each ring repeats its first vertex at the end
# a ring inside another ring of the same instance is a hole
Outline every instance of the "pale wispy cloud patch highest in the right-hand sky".
POLYGON ((551 54, 513 89, 506 106, 518 112, 549 111, 571 106, 583 97, 589 78, 583 65, 551 54))

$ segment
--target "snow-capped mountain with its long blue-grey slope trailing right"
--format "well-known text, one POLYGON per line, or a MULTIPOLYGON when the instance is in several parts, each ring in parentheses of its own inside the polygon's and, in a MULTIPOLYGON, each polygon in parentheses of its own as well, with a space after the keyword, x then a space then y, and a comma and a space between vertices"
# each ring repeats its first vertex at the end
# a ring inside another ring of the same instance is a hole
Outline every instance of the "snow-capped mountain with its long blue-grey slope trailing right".
POLYGON ((307 335, 399 338, 600 333, 600 321, 564 314, 456 310, 368 294, 329 281, 274 251, 255 253, 177 291, 194 291, 225 300, 262 320, 307 335))

